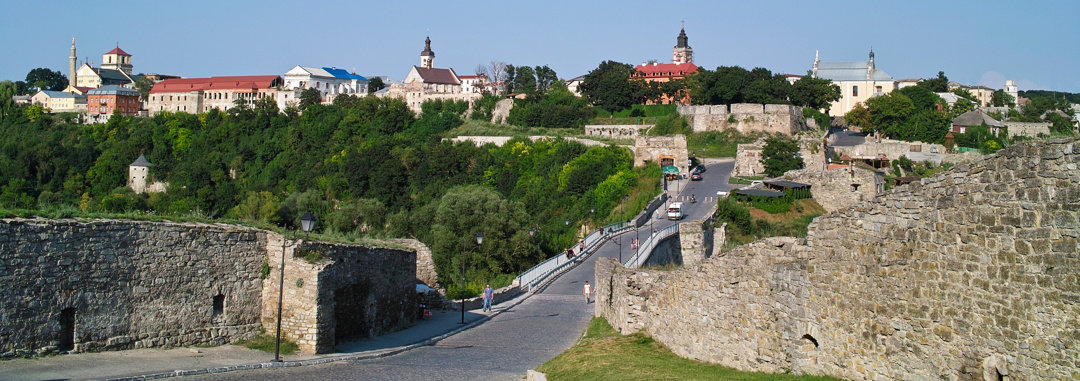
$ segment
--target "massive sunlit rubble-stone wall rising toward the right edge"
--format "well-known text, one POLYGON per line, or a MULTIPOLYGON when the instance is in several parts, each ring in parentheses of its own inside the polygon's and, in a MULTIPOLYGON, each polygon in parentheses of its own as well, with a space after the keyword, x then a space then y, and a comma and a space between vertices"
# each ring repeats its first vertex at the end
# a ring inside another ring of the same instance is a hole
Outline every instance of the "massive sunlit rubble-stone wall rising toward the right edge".
POLYGON ((698 267, 600 260, 596 314, 743 370, 1076 379, 1078 147, 1020 144, 698 267))

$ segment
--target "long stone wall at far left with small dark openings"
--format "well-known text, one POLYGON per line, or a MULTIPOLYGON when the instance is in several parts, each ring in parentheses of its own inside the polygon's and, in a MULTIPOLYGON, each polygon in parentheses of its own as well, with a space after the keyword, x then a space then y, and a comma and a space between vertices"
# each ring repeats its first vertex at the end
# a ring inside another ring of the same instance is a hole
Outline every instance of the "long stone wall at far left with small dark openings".
POLYGON ((0 353, 58 350, 67 309, 76 352, 256 335, 266 240, 224 224, 0 220, 0 353))

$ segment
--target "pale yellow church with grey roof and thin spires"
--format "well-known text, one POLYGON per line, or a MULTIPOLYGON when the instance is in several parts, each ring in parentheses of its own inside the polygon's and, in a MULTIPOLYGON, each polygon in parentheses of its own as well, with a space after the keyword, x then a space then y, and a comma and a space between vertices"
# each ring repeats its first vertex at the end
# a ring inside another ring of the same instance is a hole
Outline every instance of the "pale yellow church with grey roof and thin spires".
POLYGON ((854 63, 825 63, 821 62, 815 53, 811 76, 831 80, 840 86, 840 99, 828 108, 831 117, 843 117, 855 105, 865 103, 870 97, 889 94, 896 89, 896 81, 875 66, 873 50, 869 60, 854 63))

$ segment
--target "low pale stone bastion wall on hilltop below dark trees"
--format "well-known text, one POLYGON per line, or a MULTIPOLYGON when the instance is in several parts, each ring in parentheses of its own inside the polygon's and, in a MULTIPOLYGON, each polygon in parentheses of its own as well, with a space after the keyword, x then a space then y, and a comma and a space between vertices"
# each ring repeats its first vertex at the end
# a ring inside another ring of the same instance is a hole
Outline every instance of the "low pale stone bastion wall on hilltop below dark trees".
POLYGON ((807 128, 802 108, 789 105, 679 105, 676 110, 689 119, 696 133, 734 128, 743 134, 795 135, 807 128))

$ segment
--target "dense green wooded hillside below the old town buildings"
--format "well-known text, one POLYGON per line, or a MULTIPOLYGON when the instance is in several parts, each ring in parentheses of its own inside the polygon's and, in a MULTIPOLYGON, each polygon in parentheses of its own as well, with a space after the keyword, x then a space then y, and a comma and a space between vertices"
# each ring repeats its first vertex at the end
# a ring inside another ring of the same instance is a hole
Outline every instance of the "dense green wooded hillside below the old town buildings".
POLYGON ((400 99, 341 96, 302 112, 260 103, 83 125, 73 114, 9 104, 0 121, 0 206, 289 227, 310 209, 323 234, 424 242, 453 292, 461 260, 471 280, 505 280, 570 245, 580 223, 624 218, 615 208, 631 193, 644 203, 659 191, 638 190, 659 183, 659 168, 632 168, 623 148, 561 139, 455 145, 443 134, 461 125, 468 105, 422 109, 415 117, 400 99), (139 154, 166 192, 126 187, 139 154), (477 248, 478 231, 486 239, 477 248))

